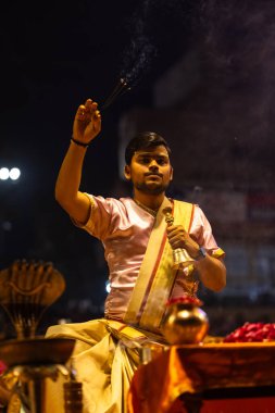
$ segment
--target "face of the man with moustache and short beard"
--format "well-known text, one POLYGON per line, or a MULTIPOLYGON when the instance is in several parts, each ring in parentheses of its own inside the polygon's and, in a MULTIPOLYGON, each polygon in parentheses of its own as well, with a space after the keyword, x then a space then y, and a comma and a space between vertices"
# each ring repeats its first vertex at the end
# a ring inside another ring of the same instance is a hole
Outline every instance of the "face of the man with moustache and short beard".
POLYGON ((143 193, 164 192, 173 177, 166 148, 161 145, 135 152, 130 165, 125 166, 125 176, 143 193))

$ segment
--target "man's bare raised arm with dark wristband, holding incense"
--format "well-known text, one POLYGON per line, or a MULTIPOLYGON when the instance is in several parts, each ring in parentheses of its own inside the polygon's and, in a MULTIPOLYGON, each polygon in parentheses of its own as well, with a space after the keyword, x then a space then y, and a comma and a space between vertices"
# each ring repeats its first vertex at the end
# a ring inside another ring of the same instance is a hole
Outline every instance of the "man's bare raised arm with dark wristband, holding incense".
POLYGON ((87 99, 77 109, 73 137, 61 165, 55 184, 55 199, 68 215, 78 223, 88 220, 90 203, 79 191, 84 158, 88 145, 101 130, 101 116, 98 104, 87 99))

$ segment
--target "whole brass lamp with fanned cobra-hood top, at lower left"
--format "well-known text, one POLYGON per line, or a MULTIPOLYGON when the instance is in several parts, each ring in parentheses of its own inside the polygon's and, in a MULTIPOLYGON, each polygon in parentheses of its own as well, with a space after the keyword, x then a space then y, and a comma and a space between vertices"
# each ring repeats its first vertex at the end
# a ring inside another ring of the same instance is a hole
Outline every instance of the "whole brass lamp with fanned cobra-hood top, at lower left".
POLYGON ((23 405, 27 412, 42 413, 45 379, 71 375, 65 363, 75 340, 36 336, 45 310, 64 289, 64 278, 51 263, 17 260, 0 271, 0 304, 16 331, 16 339, 0 342, 0 360, 8 366, 3 380, 12 393, 8 412, 20 412, 23 405))

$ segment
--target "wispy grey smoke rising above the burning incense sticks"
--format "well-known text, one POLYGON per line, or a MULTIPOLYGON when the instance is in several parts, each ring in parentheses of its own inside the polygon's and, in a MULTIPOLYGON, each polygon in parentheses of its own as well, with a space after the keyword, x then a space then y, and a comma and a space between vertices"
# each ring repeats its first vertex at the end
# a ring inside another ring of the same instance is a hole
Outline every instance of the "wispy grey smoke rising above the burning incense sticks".
POLYGON ((191 1, 145 0, 128 23, 130 41, 122 55, 121 76, 135 86, 152 70, 157 58, 176 43, 190 18, 191 1), (175 23, 173 25, 173 23, 175 23), (175 29, 173 29, 173 27, 175 29))

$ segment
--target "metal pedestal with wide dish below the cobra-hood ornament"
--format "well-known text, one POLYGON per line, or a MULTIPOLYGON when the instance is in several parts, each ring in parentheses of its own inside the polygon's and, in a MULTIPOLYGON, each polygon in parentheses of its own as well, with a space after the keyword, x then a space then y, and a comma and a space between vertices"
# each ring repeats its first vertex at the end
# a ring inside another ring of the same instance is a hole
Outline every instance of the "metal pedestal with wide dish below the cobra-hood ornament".
MULTIPOLYGON (((45 412, 46 378, 57 380, 60 374, 71 377, 71 371, 65 363, 73 352, 74 345, 75 340, 65 338, 33 338, 0 343, 1 359, 9 366, 5 375, 12 384, 10 390, 20 397, 26 412, 45 412)), ((10 404, 8 412, 13 413, 10 404)))

